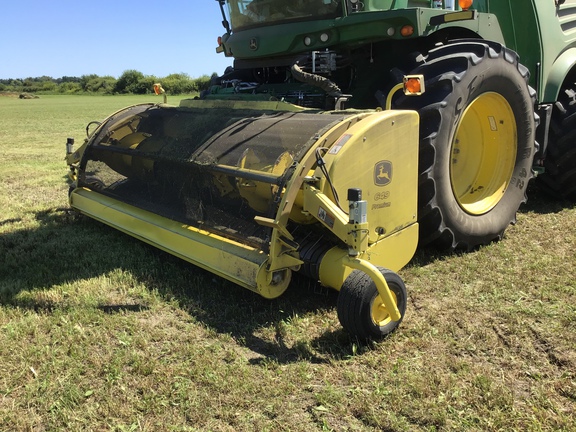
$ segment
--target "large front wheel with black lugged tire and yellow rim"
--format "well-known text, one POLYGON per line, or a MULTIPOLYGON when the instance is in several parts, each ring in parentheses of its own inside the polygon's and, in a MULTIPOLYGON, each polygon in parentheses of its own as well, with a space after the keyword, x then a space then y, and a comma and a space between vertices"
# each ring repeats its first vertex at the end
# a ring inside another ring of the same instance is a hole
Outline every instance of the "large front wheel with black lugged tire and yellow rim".
POLYGON ((395 107, 420 114, 420 244, 473 249, 500 239, 526 200, 535 93, 513 51, 458 41, 418 58, 426 92, 395 107))

